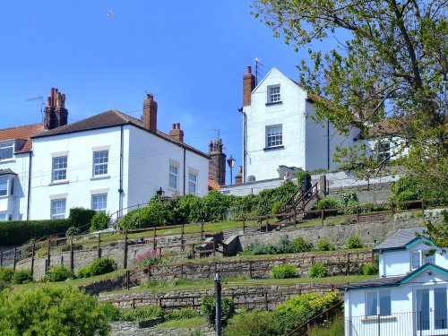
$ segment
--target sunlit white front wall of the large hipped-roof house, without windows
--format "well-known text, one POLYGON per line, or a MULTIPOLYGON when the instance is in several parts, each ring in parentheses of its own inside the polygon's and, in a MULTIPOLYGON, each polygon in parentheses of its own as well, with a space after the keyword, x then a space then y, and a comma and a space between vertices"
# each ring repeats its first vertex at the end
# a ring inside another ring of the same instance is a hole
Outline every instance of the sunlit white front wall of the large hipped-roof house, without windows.
MULTIPOLYGON (((124 132, 124 148, 128 145, 126 133, 124 132)), ((49 219, 52 199, 66 198, 65 217, 68 217, 69 209, 73 207, 90 209, 92 194, 108 194, 108 211, 117 211, 120 142, 119 126, 34 139, 31 219, 49 219), (108 150, 108 175, 100 178, 92 177, 93 152, 104 150, 108 150), (52 159, 65 155, 67 179, 65 182, 52 183, 52 159)), ((124 185, 124 189, 127 190, 127 185, 124 185)), ((124 199, 126 197, 125 194, 124 199)))

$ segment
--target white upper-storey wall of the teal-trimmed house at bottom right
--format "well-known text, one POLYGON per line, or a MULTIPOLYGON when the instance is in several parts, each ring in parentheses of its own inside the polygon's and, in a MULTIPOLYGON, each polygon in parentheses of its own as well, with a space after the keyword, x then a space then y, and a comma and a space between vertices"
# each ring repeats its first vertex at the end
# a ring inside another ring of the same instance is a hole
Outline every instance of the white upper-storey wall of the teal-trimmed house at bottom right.
MULTIPOLYGON (((404 251, 384 252, 380 254, 380 276, 392 277, 398 275, 405 275, 411 271, 410 269, 410 254, 413 251, 427 251, 430 246, 419 242, 415 246, 410 247, 404 251)), ((424 254, 425 252, 423 252, 424 254)), ((435 264, 448 269, 448 254, 441 254, 438 251, 435 254, 435 264)))

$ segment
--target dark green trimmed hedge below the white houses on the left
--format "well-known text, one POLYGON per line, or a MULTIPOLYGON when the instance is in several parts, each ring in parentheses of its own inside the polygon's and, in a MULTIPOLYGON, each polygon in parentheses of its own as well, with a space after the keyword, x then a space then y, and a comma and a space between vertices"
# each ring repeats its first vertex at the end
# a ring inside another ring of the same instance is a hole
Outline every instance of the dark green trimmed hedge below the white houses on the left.
POLYGON ((65 234, 68 228, 89 224, 95 213, 89 209, 73 208, 69 218, 63 220, 0 221, 0 246, 22 245, 30 239, 65 234))

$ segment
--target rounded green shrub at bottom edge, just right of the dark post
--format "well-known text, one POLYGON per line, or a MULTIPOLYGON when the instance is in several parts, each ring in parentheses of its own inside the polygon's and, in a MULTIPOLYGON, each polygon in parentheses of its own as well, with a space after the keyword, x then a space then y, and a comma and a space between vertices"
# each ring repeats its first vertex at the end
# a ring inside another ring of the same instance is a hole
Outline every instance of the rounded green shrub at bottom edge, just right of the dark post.
POLYGON ((243 312, 230 319, 224 330, 225 336, 280 335, 280 321, 269 312, 243 312))

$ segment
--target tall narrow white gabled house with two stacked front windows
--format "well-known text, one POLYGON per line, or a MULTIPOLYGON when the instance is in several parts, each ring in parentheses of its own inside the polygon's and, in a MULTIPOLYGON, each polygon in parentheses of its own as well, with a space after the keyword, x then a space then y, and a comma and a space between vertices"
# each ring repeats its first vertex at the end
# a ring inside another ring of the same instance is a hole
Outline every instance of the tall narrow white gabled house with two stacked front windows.
POLYGON ((331 123, 314 121, 314 102, 308 92, 276 68, 255 87, 247 67, 243 102, 244 182, 279 177, 280 166, 334 169, 336 147, 352 144, 359 133, 353 129, 344 136, 331 123))

